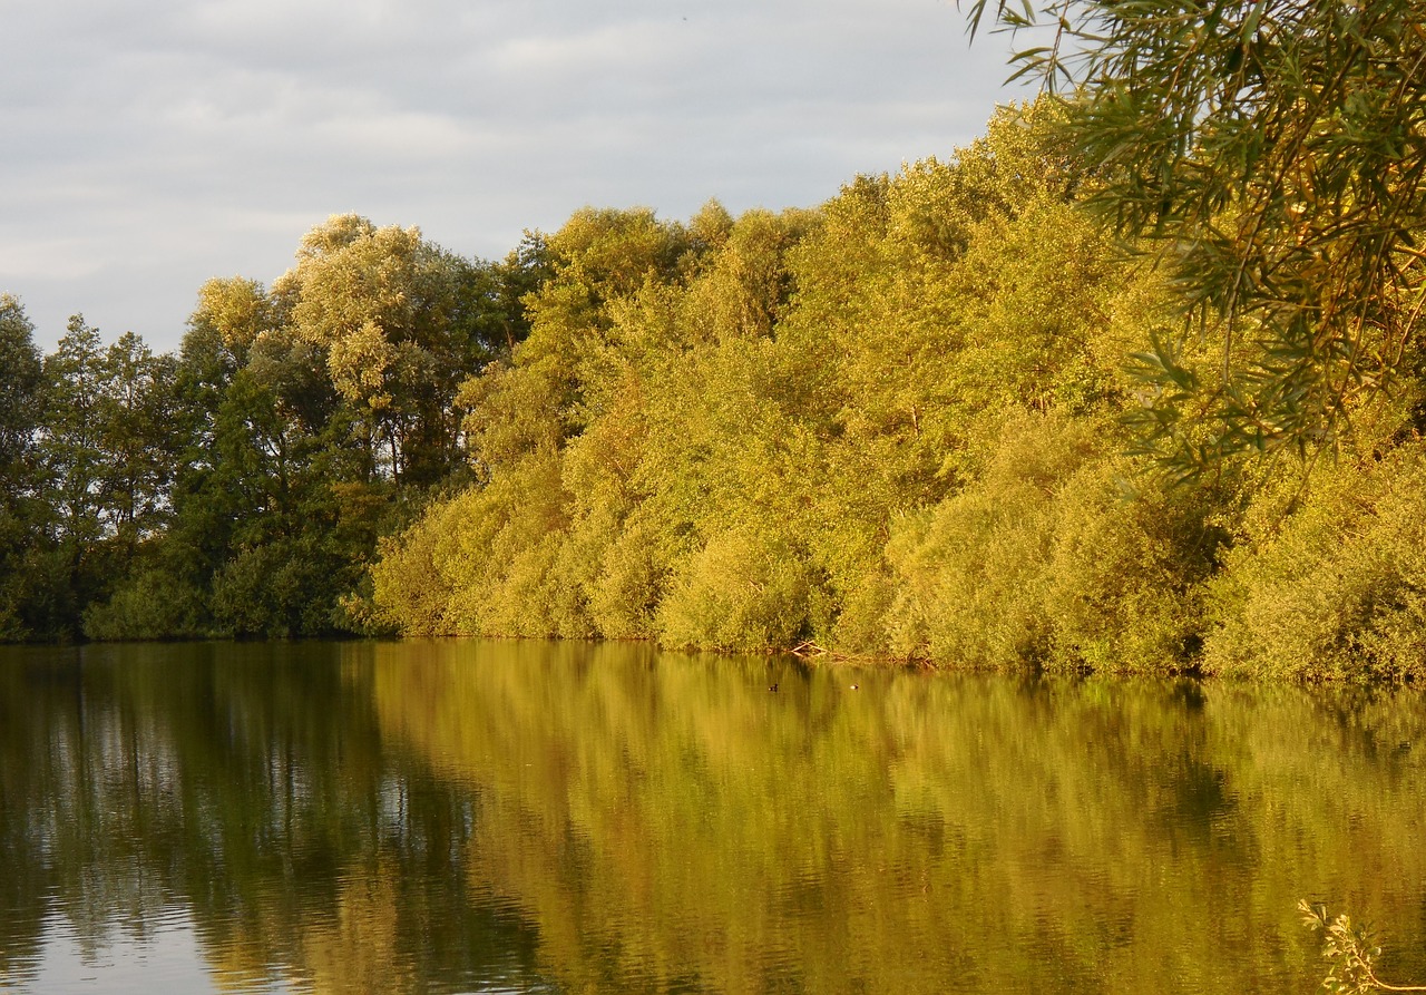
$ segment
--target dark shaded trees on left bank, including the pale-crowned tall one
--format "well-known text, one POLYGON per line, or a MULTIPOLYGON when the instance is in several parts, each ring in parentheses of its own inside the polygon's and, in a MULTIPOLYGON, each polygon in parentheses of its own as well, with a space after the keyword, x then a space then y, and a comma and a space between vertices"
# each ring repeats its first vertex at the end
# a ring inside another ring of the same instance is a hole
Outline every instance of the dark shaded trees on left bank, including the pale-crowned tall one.
POLYGON ((0 297, 0 639, 362 631, 376 536, 466 475, 452 399, 540 267, 334 217, 271 289, 208 281, 177 354, 76 315, 41 356, 0 297))

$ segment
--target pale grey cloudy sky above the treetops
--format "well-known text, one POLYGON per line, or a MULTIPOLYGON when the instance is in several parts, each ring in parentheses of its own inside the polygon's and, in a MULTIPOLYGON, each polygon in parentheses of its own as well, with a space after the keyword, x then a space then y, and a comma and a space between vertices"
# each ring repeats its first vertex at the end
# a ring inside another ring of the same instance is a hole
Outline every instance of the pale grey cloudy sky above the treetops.
POLYGON ((0 292, 177 348, 332 214, 503 258, 579 207, 816 207, 1007 88, 954 0, 0 0, 0 292))

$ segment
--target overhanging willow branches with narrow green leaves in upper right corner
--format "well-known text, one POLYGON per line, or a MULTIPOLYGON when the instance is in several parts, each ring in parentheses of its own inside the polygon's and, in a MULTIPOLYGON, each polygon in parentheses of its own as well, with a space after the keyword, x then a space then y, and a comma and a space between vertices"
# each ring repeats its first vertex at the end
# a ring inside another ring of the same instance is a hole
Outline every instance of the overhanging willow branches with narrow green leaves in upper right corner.
POLYGON ((1068 94, 1092 204, 1196 319, 1138 356, 1147 449, 1184 475, 1306 450, 1420 372, 1420 0, 968 7, 1047 41, 1017 76, 1068 94))

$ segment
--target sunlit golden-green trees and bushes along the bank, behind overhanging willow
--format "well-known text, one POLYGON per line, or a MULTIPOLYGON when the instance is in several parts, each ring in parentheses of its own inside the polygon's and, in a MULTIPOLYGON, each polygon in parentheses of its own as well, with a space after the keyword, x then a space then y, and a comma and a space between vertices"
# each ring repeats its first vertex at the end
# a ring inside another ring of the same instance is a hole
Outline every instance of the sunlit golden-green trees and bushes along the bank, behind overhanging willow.
POLYGON ((1144 423, 1214 429, 1162 418, 1162 376, 1211 382, 1224 324, 1185 338, 1172 267, 1085 210, 1104 180, 1067 114, 1004 110, 951 160, 811 212, 572 218, 529 336, 462 392, 482 482, 384 542, 376 614, 995 669, 1419 676, 1419 381, 1353 399, 1352 431, 1306 458, 1184 473, 1144 423), (1147 346, 1172 341, 1154 368, 1147 346))

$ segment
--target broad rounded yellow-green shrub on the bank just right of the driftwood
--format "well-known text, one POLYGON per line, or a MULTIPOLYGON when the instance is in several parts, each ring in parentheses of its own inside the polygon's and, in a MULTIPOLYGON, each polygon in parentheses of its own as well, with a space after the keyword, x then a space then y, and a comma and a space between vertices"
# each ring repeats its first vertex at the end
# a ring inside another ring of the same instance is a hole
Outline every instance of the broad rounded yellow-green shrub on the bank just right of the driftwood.
POLYGON ((1215 502, 1135 493, 1115 445, 1089 419, 1007 419, 983 475, 888 543, 891 647, 991 669, 1191 667, 1215 502))

